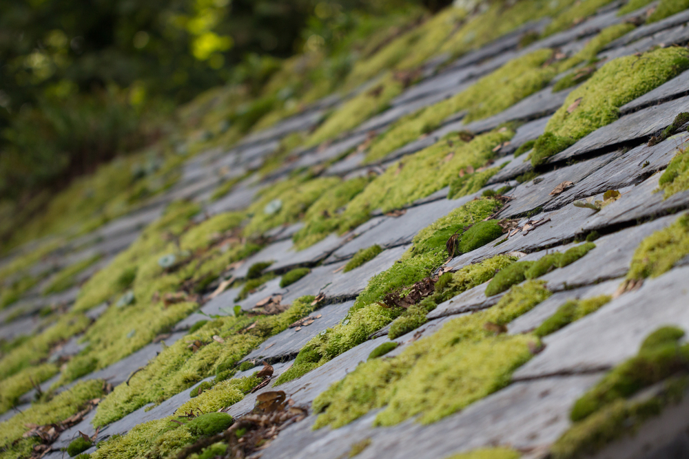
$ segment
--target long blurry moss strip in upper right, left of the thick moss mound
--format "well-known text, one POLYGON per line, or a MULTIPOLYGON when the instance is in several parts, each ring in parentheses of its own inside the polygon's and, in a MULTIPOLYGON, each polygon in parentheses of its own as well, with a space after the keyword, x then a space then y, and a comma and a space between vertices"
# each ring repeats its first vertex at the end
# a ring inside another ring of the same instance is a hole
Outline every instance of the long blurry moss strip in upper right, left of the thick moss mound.
MULTIPOLYGON (((538 50, 515 58, 463 92, 400 119, 373 142, 367 153, 367 161, 380 160, 422 134, 428 134, 458 111, 468 110, 464 120, 470 122, 500 113, 539 91, 557 72, 553 66, 543 66, 552 54, 552 50, 538 50)), ((475 168, 482 165, 478 164, 475 168)))

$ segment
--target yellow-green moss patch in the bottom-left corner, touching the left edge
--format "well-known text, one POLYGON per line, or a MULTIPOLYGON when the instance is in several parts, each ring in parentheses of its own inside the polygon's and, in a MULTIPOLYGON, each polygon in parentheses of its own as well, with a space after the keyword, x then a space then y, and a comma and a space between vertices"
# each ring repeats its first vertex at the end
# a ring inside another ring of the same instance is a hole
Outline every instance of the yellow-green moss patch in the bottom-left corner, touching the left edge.
MULTIPOLYGON (((54 396, 49 402, 35 403, 32 407, 0 423, 0 448, 8 447, 20 440, 22 434, 29 430, 29 427, 26 427, 27 424, 59 423, 79 412, 92 399, 101 396, 103 396, 103 381, 94 379, 77 383, 71 389, 54 396)), ((27 438, 21 441, 32 442, 33 440, 27 438)))

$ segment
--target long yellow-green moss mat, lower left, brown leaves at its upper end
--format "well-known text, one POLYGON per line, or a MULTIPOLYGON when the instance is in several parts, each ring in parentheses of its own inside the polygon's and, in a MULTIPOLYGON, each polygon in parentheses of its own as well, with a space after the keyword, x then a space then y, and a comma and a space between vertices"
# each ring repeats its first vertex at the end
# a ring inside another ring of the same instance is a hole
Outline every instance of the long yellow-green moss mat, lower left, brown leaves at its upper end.
MULTIPOLYGON (((128 385, 115 387, 101 402, 94 416, 94 425, 112 423, 147 403, 161 403, 213 374, 216 374, 216 381, 227 378, 234 371, 234 365, 256 346, 313 312, 315 306, 311 306, 312 302, 312 296, 300 297, 293 301, 287 311, 273 316, 228 316, 206 323, 195 334, 187 334, 185 338, 165 348, 143 370, 134 374, 128 385), (253 326, 245 330, 249 325, 253 326), (215 335, 225 342, 214 341, 212 337, 215 335), (189 343, 196 340, 203 345, 193 352, 189 343)), ((190 402, 192 405, 185 409, 195 406, 201 407, 203 412, 209 412, 206 405, 199 405, 199 399, 234 400, 241 393, 236 389, 237 381, 260 382, 257 378, 240 378, 216 383, 212 389, 193 398, 190 402)))

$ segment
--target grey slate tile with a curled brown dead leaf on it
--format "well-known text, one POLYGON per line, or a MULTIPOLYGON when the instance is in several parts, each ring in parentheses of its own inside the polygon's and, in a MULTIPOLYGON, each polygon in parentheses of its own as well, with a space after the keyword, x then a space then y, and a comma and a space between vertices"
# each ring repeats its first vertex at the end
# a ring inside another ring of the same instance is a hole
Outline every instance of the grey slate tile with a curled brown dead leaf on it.
POLYGON ((574 182, 574 186, 576 186, 579 181, 606 167, 606 165, 614 168, 617 159, 622 155, 621 151, 613 151, 588 161, 577 162, 571 166, 562 167, 562 169, 555 169, 554 171, 539 175, 533 180, 524 182, 506 193, 513 200, 504 206, 499 215, 504 217, 508 215, 523 215, 533 211, 533 209, 544 207, 556 198, 556 196, 550 194, 556 186, 562 182, 574 182))

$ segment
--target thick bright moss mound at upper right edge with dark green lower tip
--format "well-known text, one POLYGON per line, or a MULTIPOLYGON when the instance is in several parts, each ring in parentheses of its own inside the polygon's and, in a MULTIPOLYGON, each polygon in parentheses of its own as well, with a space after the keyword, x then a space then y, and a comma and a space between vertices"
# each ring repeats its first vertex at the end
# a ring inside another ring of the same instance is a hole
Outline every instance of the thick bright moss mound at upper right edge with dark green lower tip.
POLYGON ((548 120, 544 134, 536 140, 531 164, 542 164, 595 129, 617 120, 619 107, 688 67, 689 52, 679 48, 658 49, 608 62, 571 92, 548 120))

